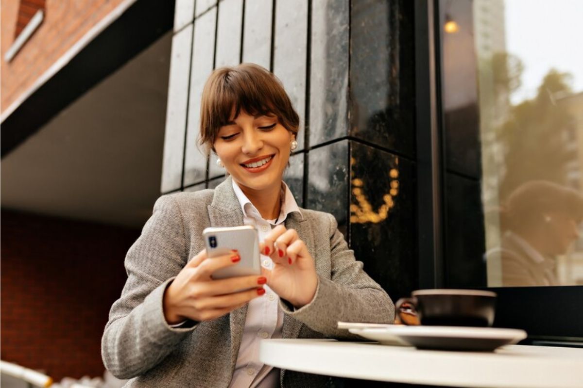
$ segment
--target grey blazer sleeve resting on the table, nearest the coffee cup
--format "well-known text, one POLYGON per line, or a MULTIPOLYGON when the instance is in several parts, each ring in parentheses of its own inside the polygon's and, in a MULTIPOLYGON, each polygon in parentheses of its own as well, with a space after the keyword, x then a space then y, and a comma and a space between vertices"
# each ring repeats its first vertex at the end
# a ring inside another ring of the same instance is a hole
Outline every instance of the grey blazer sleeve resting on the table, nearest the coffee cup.
POLYGON ((336 219, 328 216, 331 279, 318 275, 314 299, 299 309, 281 301, 283 311, 312 330, 339 339, 358 336, 338 329, 338 321, 394 323, 395 306, 391 298, 364 272, 363 263, 356 261, 354 251, 338 230, 336 219))

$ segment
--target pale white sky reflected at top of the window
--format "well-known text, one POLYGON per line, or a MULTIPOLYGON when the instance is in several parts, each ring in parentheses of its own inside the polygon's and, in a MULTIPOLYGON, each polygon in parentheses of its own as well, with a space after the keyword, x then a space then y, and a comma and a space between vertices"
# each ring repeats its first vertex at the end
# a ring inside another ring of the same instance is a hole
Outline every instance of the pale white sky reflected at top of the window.
POLYGON ((516 103, 532 98, 551 67, 583 91, 583 0, 506 0, 506 48, 524 63, 516 103))

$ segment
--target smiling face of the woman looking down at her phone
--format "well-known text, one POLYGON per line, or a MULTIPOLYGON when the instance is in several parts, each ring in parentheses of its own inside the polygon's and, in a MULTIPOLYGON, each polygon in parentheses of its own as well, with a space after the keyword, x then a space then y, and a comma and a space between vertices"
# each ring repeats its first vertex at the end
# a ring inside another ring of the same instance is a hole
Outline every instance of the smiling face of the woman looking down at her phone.
POLYGON ((233 179, 261 191, 281 185, 294 135, 276 116, 251 116, 241 111, 219 130, 215 152, 233 179))

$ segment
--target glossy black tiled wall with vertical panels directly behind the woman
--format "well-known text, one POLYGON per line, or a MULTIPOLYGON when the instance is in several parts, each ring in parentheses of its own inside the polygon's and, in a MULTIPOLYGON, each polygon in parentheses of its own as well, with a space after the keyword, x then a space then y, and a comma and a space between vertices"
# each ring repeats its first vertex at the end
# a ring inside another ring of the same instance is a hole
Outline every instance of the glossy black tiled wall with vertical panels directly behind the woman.
POLYGON ((417 285, 413 2, 176 1, 161 192, 214 188, 196 147, 213 68, 255 62, 301 118, 285 180, 300 206, 331 212, 393 298, 417 285))

